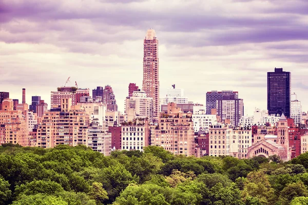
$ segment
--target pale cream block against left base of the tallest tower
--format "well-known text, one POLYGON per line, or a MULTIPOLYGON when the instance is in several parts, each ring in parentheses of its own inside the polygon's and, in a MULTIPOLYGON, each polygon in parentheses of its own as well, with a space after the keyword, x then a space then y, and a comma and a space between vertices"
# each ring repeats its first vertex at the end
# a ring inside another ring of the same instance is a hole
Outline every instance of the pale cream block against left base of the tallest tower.
POLYGON ((125 113, 130 120, 137 117, 151 119, 153 116, 152 98, 146 97, 144 91, 134 91, 132 96, 125 100, 125 113))

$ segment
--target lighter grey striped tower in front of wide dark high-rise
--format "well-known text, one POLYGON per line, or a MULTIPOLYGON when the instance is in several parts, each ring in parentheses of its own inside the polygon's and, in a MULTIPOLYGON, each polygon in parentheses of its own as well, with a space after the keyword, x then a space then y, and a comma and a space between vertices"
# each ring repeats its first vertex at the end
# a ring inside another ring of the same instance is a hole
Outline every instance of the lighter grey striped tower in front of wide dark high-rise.
POLYGON ((244 115, 243 99, 235 98, 234 96, 223 96, 217 100, 217 115, 221 120, 230 120, 230 124, 238 126, 242 116, 244 115))

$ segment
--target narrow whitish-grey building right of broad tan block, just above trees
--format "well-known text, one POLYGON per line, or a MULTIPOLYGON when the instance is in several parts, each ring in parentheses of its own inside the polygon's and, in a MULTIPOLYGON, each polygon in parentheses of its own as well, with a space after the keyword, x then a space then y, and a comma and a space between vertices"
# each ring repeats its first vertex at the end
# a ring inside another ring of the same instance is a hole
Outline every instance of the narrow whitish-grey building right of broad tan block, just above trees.
POLYGON ((109 156, 111 153, 111 133, 100 126, 99 119, 94 118, 88 129, 88 147, 109 156))

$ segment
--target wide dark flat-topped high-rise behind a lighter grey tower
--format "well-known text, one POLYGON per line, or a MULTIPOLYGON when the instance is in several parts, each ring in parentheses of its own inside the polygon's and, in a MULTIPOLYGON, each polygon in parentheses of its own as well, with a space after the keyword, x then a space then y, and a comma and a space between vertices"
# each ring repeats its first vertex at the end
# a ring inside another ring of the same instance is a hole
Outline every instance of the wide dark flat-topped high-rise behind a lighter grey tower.
POLYGON ((235 99, 239 98, 239 93, 232 90, 223 90, 218 92, 212 90, 206 93, 206 114, 211 114, 211 109, 216 109, 217 100, 222 99, 222 96, 234 96, 235 99))

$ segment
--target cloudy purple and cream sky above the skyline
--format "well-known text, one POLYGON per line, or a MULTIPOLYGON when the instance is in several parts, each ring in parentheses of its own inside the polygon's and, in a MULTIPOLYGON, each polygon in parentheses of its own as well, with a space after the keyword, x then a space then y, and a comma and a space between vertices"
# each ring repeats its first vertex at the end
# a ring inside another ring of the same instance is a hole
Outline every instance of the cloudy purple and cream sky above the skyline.
MULTIPOLYGON (((308 110, 308 1, 0 0, 0 91, 42 96, 75 81, 110 85, 120 111, 129 83, 142 87, 143 39, 159 39, 160 97, 176 84, 205 105, 211 90, 234 90, 245 115, 266 109, 266 73, 292 74, 308 110)), ((91 92, 90 92, 91 93, 91 92)))

